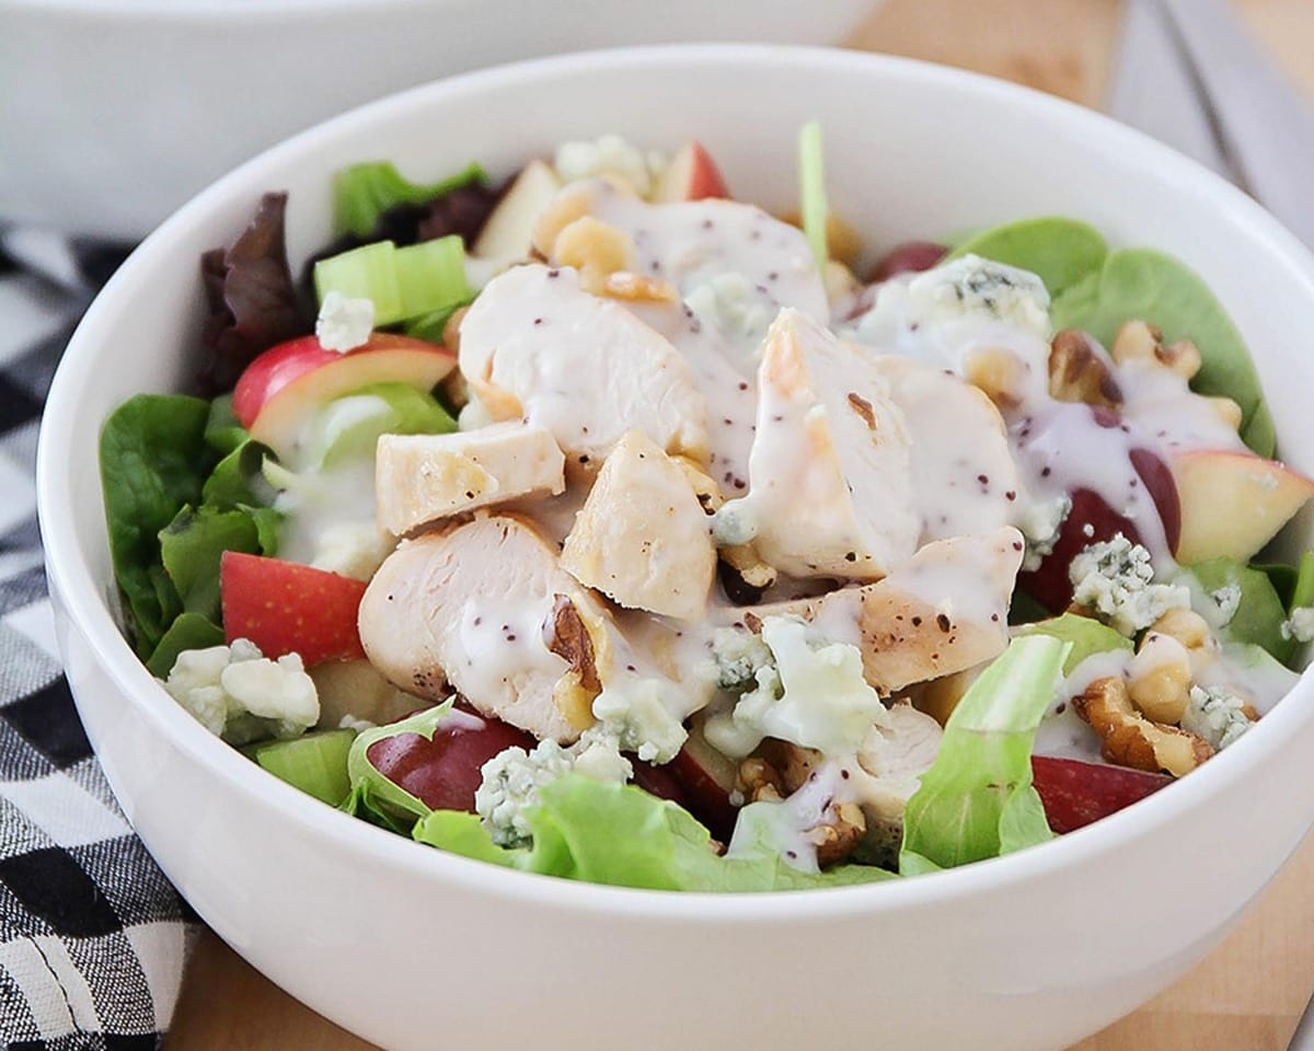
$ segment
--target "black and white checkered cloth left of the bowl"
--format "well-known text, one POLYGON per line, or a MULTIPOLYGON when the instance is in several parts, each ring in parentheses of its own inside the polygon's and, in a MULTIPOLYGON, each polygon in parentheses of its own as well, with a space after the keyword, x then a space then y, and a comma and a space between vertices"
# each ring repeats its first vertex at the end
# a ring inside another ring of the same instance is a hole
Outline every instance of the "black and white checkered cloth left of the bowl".
POLYGON ((194 917, 133 836, 60 671, 34 485, 50 377, 122 250, 0 231, 0 1044, 158 1047, 194 917))

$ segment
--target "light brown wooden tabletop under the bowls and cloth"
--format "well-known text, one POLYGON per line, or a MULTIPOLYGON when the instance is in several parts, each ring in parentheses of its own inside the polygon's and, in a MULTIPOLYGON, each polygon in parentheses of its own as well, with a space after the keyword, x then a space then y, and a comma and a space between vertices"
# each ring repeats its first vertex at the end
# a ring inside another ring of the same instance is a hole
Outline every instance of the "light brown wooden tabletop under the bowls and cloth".
MULTIPOLYGON (((1314 97, 1314 0, 1238 3, 1314 97)), ((1118 17, 1116 0, 886 0, 851 43, 1004 76, 1099 106, 1118 17)), ((1074 1051, 1285 1051, 1311 989, 1314 837, 1198 968, 1074 1051)), ((170 1051, 371 1047, 276 989, 208 931, 168 1042, 170 1051)))

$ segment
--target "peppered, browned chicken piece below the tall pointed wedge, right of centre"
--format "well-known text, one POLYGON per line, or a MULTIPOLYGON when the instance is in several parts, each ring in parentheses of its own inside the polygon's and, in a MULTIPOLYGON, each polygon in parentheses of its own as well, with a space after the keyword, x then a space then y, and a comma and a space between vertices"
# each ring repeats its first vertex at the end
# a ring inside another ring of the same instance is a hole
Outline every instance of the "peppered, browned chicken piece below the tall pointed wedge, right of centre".
POLYGON ((878 583, 754 606, 738 616, 749 624, 781 614, 837 629, 857 624, 863 677, 890 696, 1004 652, 1022 548, 1012 527, 937 540, 878 583))

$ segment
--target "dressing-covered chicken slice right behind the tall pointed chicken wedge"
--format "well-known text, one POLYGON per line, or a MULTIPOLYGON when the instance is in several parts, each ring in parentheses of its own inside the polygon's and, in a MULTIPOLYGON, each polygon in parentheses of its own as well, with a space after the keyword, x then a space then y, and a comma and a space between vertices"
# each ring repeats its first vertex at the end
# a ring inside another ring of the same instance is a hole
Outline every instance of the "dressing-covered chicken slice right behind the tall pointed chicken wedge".
POLYGON ((995 403, 961 377, 911 357, 876 355, 871 365, 890 384, 912 439, 921 543, 1008 526, 1017 511, 1017 465, 995 403))

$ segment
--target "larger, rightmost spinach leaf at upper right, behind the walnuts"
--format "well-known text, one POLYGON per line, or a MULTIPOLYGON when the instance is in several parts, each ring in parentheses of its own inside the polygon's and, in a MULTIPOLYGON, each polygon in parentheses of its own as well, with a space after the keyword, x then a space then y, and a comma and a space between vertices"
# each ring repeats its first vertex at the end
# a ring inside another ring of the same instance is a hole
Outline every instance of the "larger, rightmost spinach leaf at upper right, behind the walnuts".
POLYGON ((1192 340, 1204 360, 1192 389, 1235 401, 1242 439, 1260 456, 1273 455, 1273 420, 1250 352, 1209 286, 1180 260, 1152 248, 1120 248, 1099 275, 1056 296, 1050 314, 1056 327, 1083 328, 1105 346, 1133 319, 1158 326, 1169 343, 1192 340))

